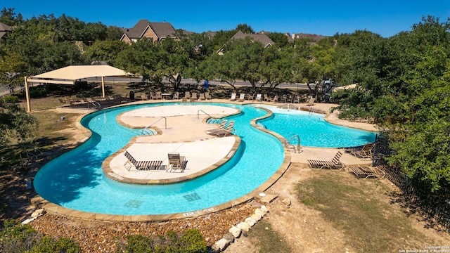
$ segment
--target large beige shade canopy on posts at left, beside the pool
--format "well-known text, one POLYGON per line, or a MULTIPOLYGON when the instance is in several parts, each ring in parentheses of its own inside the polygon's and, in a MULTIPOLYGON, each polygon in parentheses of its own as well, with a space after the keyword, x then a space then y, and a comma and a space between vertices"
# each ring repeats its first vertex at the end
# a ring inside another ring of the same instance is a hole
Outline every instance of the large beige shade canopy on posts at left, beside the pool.
POLYGON ((43 74, 37 74, 32 77, 25 77, 25 93, 27 97, 27 112, 31 112, 30 94, 28 83, 46 83, 46 84, 75 84, 80 79, 90 77, 101 77, 102 96, 105 97, 105 77, 137 77, 117 67, 109 65, 75 65, 62 67, 58 70, 52 70, 43 74))

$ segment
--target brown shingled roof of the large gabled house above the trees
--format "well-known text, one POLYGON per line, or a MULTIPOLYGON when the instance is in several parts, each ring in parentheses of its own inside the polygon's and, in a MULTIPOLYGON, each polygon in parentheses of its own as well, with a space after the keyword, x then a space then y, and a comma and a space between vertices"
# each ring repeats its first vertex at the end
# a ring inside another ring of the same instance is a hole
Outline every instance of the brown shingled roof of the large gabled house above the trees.
POLYGON ((158 39, 170 37, 175 33, 175 29, 169 22, 150 22, 148 20, 139 20, 133 28, 129 29, 125 34, 130 39, 141 39, 143 34, 151 29, 158 39))

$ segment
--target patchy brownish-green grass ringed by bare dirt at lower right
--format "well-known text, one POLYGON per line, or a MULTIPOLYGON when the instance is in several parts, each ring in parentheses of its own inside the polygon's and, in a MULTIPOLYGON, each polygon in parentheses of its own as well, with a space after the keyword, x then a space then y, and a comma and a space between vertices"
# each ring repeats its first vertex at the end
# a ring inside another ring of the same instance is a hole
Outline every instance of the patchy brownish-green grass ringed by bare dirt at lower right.
POLYGON ((425 249, 424 234, 392 204, 392 189, 378 180, 345 180, 323 173, 297 185, 300 200, 345 233, 356 252, 425 249))

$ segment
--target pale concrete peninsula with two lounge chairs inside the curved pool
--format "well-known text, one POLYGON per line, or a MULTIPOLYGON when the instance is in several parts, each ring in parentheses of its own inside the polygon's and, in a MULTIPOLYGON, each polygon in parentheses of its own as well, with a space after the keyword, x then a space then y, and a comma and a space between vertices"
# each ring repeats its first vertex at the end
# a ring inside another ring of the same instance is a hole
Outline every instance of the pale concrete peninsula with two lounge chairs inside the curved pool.
POLYGON ((166 105, 154 108, 140 108, 124 112, 117 117, 120 124, 143 129, 149 124, 158 132, 154 136, 137 136, 129 145, 117 151, 103 162, 103 171, 111 179, 125 183, 157 184, 186 181, 216 169, 233 157, 240 144, 238 136, 216 137, 206 134, 217 128, 207 124, 205 119, 234 115, 240 110, 214 105, 166 105), (207 115, 205 114, 207 113, 207 115), (136 160, 162 161, 162 168, 156 170, 127 169, 127 150, 136 160), (168 172, 167 154, 179 153, 188 161, 183 173, 168 172))

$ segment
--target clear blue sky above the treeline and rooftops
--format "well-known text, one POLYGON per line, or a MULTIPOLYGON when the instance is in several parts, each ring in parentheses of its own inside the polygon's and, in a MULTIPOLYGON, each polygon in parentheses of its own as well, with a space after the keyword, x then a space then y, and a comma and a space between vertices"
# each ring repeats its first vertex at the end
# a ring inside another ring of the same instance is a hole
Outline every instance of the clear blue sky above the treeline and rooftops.
POLYGON ((171 22, 192 32, 233 30, 250 25, 255 32, 311 33, 330 36, 368 30, 391 37, 411 30, 423 16, 441 22, 450 17, 450 0, 428 1, 51 1, 0 0, 0 8, 15 8, 25 19, 63 13, 84 22, 133 27, 141 19, 171 22))

